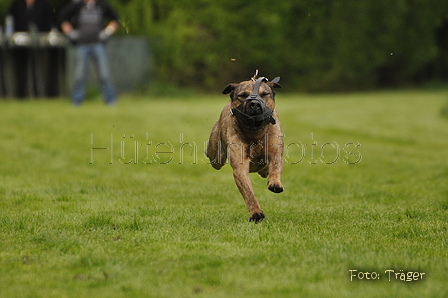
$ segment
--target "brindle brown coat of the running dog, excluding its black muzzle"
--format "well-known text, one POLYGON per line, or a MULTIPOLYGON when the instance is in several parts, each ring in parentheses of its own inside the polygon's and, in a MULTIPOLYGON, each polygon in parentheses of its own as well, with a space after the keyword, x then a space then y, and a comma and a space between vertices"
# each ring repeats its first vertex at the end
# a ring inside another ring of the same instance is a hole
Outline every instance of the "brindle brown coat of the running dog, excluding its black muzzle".
POLYGON ((231 114, 254 90, 253 80, 230 84, 223 94, 230 93, 230 102, 224 107, 221 116, 213 126, 207 146, 207 157, 211 165, 219 170, 229 160, 233 168, 235 183, 250 212, 250 221, 263 220, 264 213, 255 198, 249 173, 258 172, 268 177, 268 189, 275 193, 283 191, 280 175, 283 171, 283 139, 275 110, 273 88, 281 88, 274 82, 262 83, 259 95, 273 111, 275 124, 267 124, 259 129, 245 126, 231 114))

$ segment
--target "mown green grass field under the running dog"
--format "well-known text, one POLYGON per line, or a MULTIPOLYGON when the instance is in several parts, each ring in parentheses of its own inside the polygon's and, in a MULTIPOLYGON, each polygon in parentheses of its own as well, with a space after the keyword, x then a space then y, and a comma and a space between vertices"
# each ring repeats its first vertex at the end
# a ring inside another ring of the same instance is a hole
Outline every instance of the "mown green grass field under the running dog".
POLYGON ((447 297, 447 99, 279 92, 260 224, 203 154, 227 96, 0 101, 0 297, 447 297))

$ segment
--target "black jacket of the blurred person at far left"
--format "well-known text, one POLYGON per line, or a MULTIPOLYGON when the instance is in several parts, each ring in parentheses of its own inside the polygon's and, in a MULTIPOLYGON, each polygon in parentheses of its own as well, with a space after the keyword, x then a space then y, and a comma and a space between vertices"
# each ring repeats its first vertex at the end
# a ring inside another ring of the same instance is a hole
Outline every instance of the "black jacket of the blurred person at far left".
POLYGON ((14 31, 30 31, 30 24, 36 25, 37 31, 48 32, 53 25, 53 10, 47 0, 35 0, 31 9, 25 0, 14 0, 8 11, 14 17, 14 31))

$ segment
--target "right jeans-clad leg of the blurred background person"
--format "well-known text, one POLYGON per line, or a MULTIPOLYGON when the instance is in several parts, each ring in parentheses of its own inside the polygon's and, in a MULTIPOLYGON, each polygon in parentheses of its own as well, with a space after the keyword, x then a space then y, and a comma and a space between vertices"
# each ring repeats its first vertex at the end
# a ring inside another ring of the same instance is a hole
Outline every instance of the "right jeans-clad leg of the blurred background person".
POLYGON ((108 105, 113 105, 116 101, 115 91, 109 77, 109 65, 107 62, 106 46, 98 43, 93 48, 94 60, 96 64, 96 71, 98 73, 98 80, 101 85, 101 92, 104 101, 108 105))

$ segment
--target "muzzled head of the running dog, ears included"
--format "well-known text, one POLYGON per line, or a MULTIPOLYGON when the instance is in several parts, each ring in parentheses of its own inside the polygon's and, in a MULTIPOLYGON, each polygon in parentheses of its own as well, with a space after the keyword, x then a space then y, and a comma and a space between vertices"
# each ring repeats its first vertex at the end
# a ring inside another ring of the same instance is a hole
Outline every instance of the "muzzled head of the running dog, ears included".
POLYGON ((243 81, 239 84, 229 84, 222 91, 230 93, 232 114, 245 126, 259 129, 269 123, 275 124, 273 111, 275 109, 274 88, 281 88, 280 78, 268 82, 266 78, 243 81))

